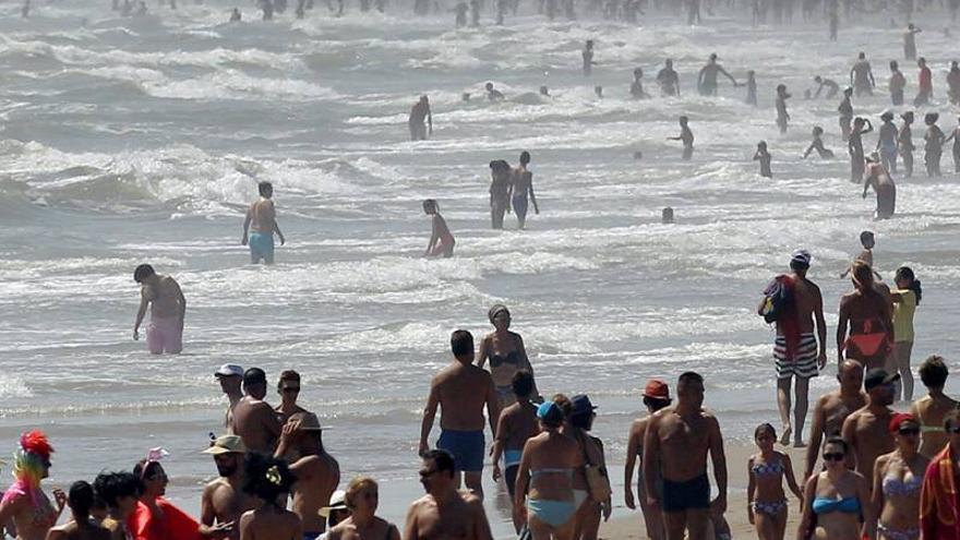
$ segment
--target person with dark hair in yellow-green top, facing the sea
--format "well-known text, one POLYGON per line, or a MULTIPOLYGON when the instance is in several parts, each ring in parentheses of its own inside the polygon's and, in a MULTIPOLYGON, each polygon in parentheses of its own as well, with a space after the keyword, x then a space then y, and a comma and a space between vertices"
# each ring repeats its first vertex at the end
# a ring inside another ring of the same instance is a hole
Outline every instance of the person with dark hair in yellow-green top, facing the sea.
MULTIPOLYGON (((913 374, 910 372, 910 352, 913 350, 913 314, 920 304, 922 289, 920 279, 909 266, 897 268, 893 276, 897 288, 890 291, 893 300, 893 353, 887 358, 887 370, 899 371, 903 399, 913 400, 913 374)), ((901 388, 898 386, 896 399, 899 401, 901 388)))

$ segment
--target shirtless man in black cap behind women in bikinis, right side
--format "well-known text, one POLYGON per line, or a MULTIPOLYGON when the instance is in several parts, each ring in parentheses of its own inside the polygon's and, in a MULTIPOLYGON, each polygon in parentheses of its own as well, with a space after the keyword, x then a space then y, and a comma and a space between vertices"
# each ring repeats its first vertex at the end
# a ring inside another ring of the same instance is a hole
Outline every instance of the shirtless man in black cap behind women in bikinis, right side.
POLYGON ((843 421, 841 436, 851 449, 848 466, 864 478, 873 478, 877 457, 893 452, 896 447, 888 427, 893 415, 889 407, 893 403, 893 383, 899 380, 899 373, 890 375, 883 368, 869 370, 863 379, 866 405, 843 421))

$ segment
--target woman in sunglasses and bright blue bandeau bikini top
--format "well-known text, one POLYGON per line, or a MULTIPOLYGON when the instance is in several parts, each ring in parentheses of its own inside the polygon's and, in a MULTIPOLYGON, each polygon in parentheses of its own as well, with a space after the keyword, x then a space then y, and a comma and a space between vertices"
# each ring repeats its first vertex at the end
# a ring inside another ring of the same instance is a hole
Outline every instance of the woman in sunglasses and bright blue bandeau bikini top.
POLYGON ((839 436, 824 445, 824 468, 806 482, 797 540, 851 540, 866 537, 874 519, 869 487, 863 475, 847 468, 849 446, 839 436), (863 516, 863 517, 861 517, 863 516))

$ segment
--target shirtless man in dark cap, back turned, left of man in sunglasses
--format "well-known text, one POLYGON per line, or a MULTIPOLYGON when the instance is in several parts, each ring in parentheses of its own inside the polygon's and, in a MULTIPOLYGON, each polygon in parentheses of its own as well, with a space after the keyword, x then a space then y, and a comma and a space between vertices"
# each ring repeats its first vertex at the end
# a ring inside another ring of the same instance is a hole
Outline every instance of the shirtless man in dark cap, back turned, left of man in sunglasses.
POLYGON ((247 394, 233 407, 233 433, 240 435, 248 452, 272 453, 283 425, 273 407, 263 400, 266 396, 266 373, 250 368, 243 373, 247 394))

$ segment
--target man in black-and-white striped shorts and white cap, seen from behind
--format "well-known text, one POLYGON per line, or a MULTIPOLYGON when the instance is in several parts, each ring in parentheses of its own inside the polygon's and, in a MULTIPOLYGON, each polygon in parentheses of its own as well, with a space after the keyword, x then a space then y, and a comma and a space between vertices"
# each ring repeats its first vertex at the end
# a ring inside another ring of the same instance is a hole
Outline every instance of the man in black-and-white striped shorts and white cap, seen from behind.
POLYGON ((824 298, 816 284, 806 278, 811 254, 797 250, 790 257, 792 274, 785 276, 793 291, 792 313, 784 313, 777 321, 777 338, 773 344, 773 361, 777 367, 777 404, 783 424, 781 444, 803 446, 803 424, 809 399, 809 380, 818 375, 827 364, 827 323, 824 320, 824 298), (814 329, 816 325, 816 335, 814 329), (790 423, 790 386, 796 379, 793 425, 790 423), (796 429, 794 432, 793 429, 796 429))

